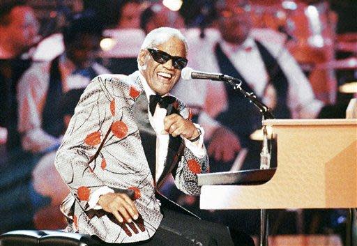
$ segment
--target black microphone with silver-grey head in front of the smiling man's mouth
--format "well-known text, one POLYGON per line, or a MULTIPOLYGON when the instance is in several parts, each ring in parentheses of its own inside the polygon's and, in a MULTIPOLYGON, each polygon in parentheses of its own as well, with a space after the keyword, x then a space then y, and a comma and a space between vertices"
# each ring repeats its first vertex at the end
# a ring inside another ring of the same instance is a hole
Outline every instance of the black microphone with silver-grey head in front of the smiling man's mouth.
POLYGON ((231 77, 229 75, 224 75, 222 73, 217 72, 201 72, 193 70, 192 68, 186 67, 181 71, 181 78, 188 79, 210 79, 215 81, 225 81, 225 82, 241 82, 241 79, 237 79, 235 77, 231 77))

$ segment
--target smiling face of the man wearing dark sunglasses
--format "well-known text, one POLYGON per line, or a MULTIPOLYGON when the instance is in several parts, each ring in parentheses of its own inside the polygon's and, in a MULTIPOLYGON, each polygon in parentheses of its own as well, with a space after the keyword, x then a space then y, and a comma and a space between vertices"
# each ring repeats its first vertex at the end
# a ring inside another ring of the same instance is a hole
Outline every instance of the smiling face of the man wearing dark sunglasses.
MULTIPOLYGON (((165 43, 155 47, 171 56, 186 57, 186 49, 183 41, 179 38, 170 38, 165 43)), ((181 76, 181 70, 172 66, 172 60, 170 59, 164 64, 160 64, 153 60, 153 57, 147 49, 142 49, 139 53, 139 65, 142 68, 142 74, 149 84, 158 95, 165 95, 172 87, 179 81, 181 76)))

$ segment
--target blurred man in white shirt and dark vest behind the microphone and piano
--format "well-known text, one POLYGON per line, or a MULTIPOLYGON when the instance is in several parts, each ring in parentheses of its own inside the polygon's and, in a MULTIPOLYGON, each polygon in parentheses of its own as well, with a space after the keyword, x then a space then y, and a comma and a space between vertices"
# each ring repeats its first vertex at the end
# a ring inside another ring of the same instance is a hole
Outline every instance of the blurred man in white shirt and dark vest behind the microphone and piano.
MULTIPOLYGON (((277 42, 253 38, 248 1, 218 1, 215 7, 220 38, 192 50, 189 66, 241 79, 243 89, 254 92, 276 118, 316 118, 324 103, 316 100, 307 78, 287 49, 277 42)), ((190 82, 181 82, 181 89, 174 89, 173 93, 181 96, 193 90, 190 86, 190 82)), ((261 128, 261 114, 255 105, 223 82, 197 82, 195 86, 195 91, 206 97, 204 105, 197 105, 202 107, 197 121, 206 131, 211 171, 259 169, 261 142, 250 139, 250 134, 261 128), (242 148, 244 162, 237 164, 242 148)), ((186 203, 192 205, 191 199, 186 203)), ((224 211, 213 216, 215 221, 236 225, 248 233, 258 231, 258 213, 224 211)))

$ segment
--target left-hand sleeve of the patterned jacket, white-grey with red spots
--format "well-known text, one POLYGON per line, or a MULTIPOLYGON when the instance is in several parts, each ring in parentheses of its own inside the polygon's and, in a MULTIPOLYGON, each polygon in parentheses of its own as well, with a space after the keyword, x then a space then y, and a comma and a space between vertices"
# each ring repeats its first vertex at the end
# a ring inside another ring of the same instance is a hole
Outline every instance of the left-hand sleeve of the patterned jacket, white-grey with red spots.
POLYGON ((95 162, 89 162, 115 120, 106 83, 105 79, 96 77, 87 86, 75 108, 54 163, 84 210, 90 208, 88 201, 91 194, 105 187, 93 172, 95 162))

